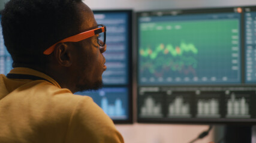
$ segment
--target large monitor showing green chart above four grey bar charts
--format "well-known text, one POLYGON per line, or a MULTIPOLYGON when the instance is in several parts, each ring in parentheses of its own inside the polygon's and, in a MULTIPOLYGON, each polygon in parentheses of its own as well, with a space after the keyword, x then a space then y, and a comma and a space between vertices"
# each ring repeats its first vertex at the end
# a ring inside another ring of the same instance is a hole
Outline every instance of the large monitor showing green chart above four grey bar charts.
POLYGON ((256 14, 247 9, 137 13, 138 122, 256 123, 256 14))

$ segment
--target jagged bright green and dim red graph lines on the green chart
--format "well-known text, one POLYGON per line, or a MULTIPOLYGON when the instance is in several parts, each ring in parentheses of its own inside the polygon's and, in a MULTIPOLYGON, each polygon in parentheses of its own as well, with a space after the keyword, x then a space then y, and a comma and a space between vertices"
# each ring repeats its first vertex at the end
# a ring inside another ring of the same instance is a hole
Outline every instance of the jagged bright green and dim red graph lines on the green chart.
POLYGON ((194 55, 197 54, 198 49, 192 43, 181 42, 180 46, 173 46, 171 44, 160 43, 156 48, 146 48, 140 50, 140 55, 145 58, 144 63, 141 64, 141 70, 149 70, 155 76, 162 76, 161 73, 167 70, 189 71, 185 69, 194 69, 197 67, 197 60, 194 55), (188 54, 189 53, 189 54, 188 54), (186 56, 183 56, 186 55, 186 56), (156 58, 158 58, 156 60, 156 58), (190 66, 190 67, 189 67, 190 66), (162 69, 159 71, 157 69, 162 69))

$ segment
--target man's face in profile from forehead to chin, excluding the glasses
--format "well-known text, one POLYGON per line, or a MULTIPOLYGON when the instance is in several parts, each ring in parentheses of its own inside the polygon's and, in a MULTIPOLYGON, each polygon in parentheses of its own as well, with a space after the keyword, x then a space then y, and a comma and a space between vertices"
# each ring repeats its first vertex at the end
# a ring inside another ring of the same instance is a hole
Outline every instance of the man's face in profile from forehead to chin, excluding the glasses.
MULTIPOLYGON (((82 9, 82 26, 80 29, 83 31, 97 28, 94 14, 85 4, 79 6, 82 9), (86 10, 86 11, 85 11, 86 10)), ((101 47, 98 45, 97 36, 85 39, 77 45, 76 64, 77 69, 77 90, 85 91, 89 89, 99 89, 103 85, 102 74, 106 70, 104 65, 106 60, 103 57, 103 52, 106 51, 106 46, 101 47)))

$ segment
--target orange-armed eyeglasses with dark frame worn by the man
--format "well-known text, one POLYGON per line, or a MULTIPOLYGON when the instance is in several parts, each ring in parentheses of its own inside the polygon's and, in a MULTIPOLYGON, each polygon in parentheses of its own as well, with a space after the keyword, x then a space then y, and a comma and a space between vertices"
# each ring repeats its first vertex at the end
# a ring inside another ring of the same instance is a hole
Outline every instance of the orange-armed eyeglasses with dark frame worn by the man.
MULTIPOLYGON (((103 24, 98 24, 98 28, 97 29, 92 29, 92 30, 89 30, 89 31, 86 31, 86 32, 79 33, 77 35, 70 36, 68 38, 63 39, 62 41, 57 42, 57 43, 62 43, 62 42, 79 42, 79 41, 82 41, 84 39, 90 38, 90 37, 92 37, 94 35, 99 35, 97 37, 98 44, 100 46, 104 46, 106 44, 106 31, 107 31, 106 26, 104 26, 103 24), (103 33, 103 34, 101 34, 101 33, 103 33)), ((55 46, 57 45, 57 43, 55 43, 54 45, 50 46, 43 53, 45 55, 52 54, 52 52, 53 52, 55 46)))

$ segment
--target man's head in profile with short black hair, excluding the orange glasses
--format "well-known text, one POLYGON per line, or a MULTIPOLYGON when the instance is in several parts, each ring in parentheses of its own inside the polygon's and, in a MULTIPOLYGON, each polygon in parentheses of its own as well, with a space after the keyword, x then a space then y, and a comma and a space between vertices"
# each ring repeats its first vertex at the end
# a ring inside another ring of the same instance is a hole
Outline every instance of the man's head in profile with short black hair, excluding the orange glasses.
POLYGON ((43 52, 62 39, 95 28, 94 14, 81 0, 11 0, 2 13, 13 67, 43 71, 72 92, 100 88, 106 46, 100 47, 95 35, 80 42, 60 42, 50 55, 43 52))

